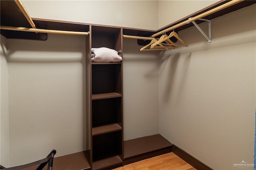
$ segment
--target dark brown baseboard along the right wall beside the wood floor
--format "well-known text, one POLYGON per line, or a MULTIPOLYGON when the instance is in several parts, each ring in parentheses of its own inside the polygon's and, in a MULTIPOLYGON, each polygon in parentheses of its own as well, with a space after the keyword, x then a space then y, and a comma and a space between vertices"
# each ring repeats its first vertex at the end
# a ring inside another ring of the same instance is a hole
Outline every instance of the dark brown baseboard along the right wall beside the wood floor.
POLYGON ((210 168, 200 160, 194 158, 192 155, 188 154, 187 152, 185 152, 184 150, 182 150, 181 148, 174 144, 172 145, 172 152, 179 156, 180 158, 182 158, 188 164, 196 168, 197 170, 213 170, 212 168, 210 168))

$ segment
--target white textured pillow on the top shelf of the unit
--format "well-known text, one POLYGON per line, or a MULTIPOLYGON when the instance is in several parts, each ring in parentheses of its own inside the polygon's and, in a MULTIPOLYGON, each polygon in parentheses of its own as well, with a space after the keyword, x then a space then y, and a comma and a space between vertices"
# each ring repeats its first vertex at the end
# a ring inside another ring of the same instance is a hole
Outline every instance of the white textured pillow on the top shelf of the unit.
POLYGON ((114 49, 107 47, 92 48, 92 61, 93 62, 119 62, 122 57, 114 49))

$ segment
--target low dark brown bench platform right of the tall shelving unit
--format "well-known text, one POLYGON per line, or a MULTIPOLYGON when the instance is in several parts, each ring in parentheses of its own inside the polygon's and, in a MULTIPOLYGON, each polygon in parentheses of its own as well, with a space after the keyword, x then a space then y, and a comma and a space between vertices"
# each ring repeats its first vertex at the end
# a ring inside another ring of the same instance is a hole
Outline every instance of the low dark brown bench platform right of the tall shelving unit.
POLYGON ((172 152, 172 144, 160 134, 124 141, 124 164, 172 152))

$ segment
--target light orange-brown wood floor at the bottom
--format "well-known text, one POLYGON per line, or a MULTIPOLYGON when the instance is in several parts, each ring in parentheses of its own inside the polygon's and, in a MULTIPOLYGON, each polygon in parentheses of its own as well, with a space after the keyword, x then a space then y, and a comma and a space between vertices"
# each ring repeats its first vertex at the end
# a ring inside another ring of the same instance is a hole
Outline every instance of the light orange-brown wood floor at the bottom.
POLYGON ((196 170, 176 154, 170 152, 139 162, 116 168, 115 170, 196 170))

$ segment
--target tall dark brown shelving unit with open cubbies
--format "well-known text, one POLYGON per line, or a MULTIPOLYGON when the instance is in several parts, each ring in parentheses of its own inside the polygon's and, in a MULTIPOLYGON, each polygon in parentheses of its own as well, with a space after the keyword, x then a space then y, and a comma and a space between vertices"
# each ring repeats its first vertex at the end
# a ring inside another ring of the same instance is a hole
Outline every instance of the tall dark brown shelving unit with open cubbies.
POLYGON ((87 54, 87 133, 92 170, 123 165, 122 61, 92 62, 91 48, 108 47, 122 56, 122 28, 90 26, 87 54), (90 121, 89 121, 90 120, 90 121))

